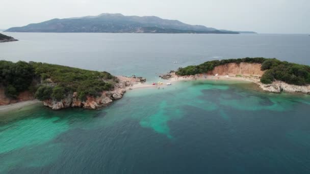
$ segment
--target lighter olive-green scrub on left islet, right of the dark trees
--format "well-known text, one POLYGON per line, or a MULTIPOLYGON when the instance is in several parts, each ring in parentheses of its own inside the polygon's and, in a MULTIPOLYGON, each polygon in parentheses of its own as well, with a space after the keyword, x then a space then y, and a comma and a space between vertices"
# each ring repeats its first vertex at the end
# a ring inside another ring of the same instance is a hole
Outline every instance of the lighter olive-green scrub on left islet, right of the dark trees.
POLYGON ((102 91, 113 89, 117 78, 108 72, 98 72, 71 68, 45 63, 30 63, 35 68, 35 73, 46 83, 56 83, 51 97, 61 100, 72 92, 86 100, 87 96, 100 96, 102 91))

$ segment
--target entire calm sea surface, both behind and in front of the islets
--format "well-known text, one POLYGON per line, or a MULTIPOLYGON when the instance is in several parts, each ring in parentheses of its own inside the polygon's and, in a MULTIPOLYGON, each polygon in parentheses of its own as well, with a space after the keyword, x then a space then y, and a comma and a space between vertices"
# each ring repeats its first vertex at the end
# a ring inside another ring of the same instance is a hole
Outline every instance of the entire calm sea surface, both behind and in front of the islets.
MULTIPOLYGON (((205 61, 310 65, 307 35, 4 33, 0 59, 146 77, 205 61), (173 64, 178 62, 178 64, 173 64)), ((252 83, 178 82, 101 110, 0 112, 0 173, 310 173, 310 97, 252 83)))

